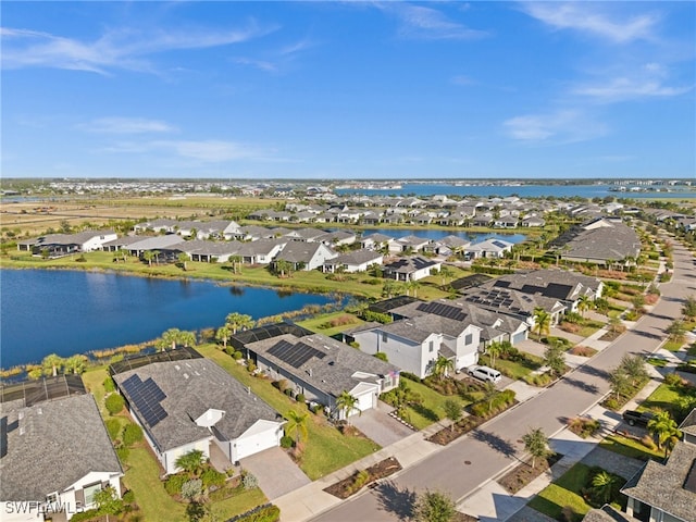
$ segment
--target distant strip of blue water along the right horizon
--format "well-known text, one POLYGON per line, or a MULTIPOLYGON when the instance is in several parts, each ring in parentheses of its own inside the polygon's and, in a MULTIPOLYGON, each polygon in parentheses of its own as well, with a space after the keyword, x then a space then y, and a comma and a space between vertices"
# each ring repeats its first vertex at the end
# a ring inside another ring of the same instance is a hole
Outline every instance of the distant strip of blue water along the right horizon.
POLYGON ((612 196, 614 198, 696 198, 696 190, 693 188, 687 191, 679 192, 613 192, 610 188, 616 185, 520 185, 517 187, 509 186, 457 186, 450 184, 427 184, 427 183, 407 183, 400 189, 387 190, 358 190, 358 189, 337 189, 336 194, 362 194, 365 196, 433 196, 436 194, 445 194, 449 196, 475 196, 481 198, 488 197, 508 197, 519 196, 521 198, 544 198, 556 196, 557 198, 605 198, 612 196))

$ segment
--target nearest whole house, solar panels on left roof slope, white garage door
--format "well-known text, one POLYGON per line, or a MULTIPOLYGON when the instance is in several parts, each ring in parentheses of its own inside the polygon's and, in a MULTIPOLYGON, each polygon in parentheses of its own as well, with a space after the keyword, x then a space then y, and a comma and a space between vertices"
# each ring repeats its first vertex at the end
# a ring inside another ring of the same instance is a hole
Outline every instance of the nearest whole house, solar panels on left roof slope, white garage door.
POLYGON ((234 463, 279 446, 284 421, 273 408, 192 348, 171 351, 173 360, 137 356, 109 368, 166 474, 191 450, 234 463))

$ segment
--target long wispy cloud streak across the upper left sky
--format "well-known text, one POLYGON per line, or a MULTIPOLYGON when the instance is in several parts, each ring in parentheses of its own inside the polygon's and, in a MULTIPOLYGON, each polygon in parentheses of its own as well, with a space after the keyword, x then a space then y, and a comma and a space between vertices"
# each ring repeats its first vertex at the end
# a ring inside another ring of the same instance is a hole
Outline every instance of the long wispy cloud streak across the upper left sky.
POLYGON ((254 21, 241 29, 136 30, 115 29, 94 41, 80 41, 49 33, 3 27, 3 69, 50 67, 110 74, 113 70, 153 72, 146 57, 185 49, 239 44, 263 36, 275 27, 254 21))

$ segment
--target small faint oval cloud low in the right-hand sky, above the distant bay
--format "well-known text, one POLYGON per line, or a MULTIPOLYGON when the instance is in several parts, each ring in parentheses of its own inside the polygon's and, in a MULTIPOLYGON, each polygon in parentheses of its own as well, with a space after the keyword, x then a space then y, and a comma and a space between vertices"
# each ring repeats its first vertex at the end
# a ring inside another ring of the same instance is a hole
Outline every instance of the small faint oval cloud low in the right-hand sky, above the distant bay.
POLYGON ((607 127, 579 110, 559 110, 547 114, 525 114, 502 123, 512 139, 529 144, 562 145, 595 139, 607 127))

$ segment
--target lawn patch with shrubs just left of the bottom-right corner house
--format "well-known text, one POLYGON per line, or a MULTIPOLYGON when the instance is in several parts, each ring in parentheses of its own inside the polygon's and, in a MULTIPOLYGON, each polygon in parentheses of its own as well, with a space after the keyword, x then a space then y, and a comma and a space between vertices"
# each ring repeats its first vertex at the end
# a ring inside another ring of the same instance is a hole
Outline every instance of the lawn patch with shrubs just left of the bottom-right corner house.
POLYGON ((580 521, 592 509, 580 495, 588 480, 589 467, 579 462, 556 483, 542 489, 529 506, 557 520, 564 520, 562 510, 569 506, 575 513, 573 520, 580 521))

